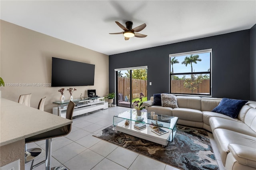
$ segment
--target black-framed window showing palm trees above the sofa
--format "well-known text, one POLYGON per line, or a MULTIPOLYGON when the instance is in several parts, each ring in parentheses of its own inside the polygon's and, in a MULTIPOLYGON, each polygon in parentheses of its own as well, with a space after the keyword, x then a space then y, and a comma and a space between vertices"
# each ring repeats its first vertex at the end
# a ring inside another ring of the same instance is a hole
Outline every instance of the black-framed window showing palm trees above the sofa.
POLYGON ((212 49, 170 54, 170 93, 211 95, 212 49))

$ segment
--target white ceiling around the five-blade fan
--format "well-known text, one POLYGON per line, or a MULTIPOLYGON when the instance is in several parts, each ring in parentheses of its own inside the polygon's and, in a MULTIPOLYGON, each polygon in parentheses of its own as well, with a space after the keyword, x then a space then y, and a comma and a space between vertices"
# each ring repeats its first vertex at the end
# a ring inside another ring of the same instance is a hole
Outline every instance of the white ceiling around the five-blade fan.
POLYGON ((111 55, 250 29, 255 0, 0 1, 2 20, 111 55), (125 41, 115 21, 146 23, 146 38, 125 41))

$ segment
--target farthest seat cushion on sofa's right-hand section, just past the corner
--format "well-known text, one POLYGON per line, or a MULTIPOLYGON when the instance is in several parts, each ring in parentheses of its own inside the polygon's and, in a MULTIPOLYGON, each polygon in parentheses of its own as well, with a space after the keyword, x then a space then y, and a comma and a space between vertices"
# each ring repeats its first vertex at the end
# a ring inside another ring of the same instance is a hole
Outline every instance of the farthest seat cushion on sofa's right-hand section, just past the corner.
POLYGON ((256 137, 256 133, 240 120, 237 121, 236 119, 229 120, 224 118, 211 117, 209 123, 212 132, 217 128, 221 128, 256 137))

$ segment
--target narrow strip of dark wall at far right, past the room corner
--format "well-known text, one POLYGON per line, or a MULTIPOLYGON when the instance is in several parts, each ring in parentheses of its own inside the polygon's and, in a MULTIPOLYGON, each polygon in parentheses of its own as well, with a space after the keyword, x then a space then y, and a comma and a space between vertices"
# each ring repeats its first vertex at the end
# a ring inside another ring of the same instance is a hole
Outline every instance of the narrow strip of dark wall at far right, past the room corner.
POLYGON ((256 101, 256 24, 250 29, 250 100, 256 101))

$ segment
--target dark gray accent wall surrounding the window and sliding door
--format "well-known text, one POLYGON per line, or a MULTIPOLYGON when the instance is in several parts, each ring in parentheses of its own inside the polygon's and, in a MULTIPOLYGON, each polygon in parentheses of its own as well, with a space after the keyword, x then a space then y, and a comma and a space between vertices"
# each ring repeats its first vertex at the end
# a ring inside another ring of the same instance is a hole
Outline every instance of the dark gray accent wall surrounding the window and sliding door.
POLYGON ((148 99, 155 93, 169 92, 169 54, 210 48, 212 97, 249 100, 250 30, 110 55, 109 91, 115 91, 115 68, 148 66, 148 99))

